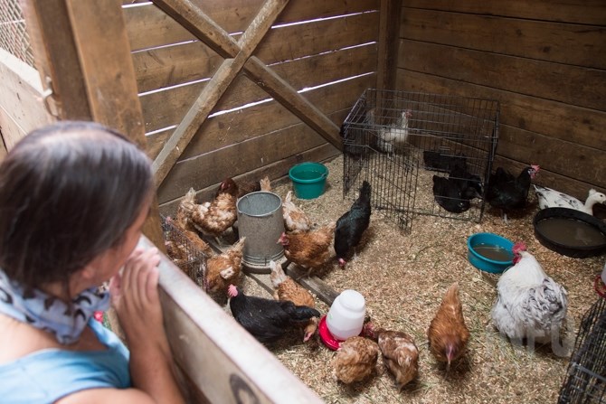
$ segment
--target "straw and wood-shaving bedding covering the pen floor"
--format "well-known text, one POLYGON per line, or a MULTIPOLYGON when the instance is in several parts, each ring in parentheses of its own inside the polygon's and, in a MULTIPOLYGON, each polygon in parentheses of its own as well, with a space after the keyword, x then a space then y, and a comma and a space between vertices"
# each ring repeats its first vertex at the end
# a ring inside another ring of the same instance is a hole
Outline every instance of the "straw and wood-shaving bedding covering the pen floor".
MULTIPOLYGON (((318 224, 336 221, 351 205, 343 199, 342 164, 342 157, 327 163, 326 193, 314 200, 295 198, 318 224)), ((431 192, 431 181, 422 183, 420 179, 418 186, 431 192)), ((291 189, 291 183, 282 182, 274 192, 284 197, 291 189)), ((300 335, 289 336, 270 346, 270 351, 329 403, 555 402, 569 358, 557 356, 549 346, 515 349, 501 338, 490 323, 498 276, 479 271, 467 259, 466 242, 476 232, 525 241, 545 272, 568 291, 573 331, 566 341, 573 344, 582 315, 598 298, 593 281, 605 258, 568 258, 542 246, 534 235, 532 219, 538 208, 534 193, 530 194, 525 214, 509 218, 507 224, 499 211, 487 207, 480 223, 419 215, 410 234, 405 234, 382 211, 373 211, 357 257, 345 270, 335 264, 318 275, 336 291, 352 288, 365 296, 367 313, 375 323, 412 334, 420 348, 420 374, 402 391, 394 386, 381 359, 378 371, 368 381, 350 386, 336 382, 330 365, 335 352, 319 337, 302 343, 300 335), (446 373, 428 350, 426 331, 443 293, 453 282, 459 282, 471 339, 466 358, 446 373)), ((248 294, 269 297, 251 278, 247 277, 243 286, 248 294)), ((326 314, 329 307, 317 299, 317 308, 326 314)))

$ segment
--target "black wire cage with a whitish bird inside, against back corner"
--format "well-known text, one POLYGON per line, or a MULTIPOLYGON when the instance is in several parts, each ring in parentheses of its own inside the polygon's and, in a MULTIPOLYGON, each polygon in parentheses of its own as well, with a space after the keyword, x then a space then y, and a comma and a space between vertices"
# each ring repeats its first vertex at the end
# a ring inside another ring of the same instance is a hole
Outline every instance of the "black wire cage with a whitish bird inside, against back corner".
POLYGON ((344 197, 368 181, 374 208, 405 231, 415 214, 481 221, 498 117, 496 100, 365 89, 341 127, 344 197), (478 198, 466 185, 438 203, 433 186, 443 180, 434 176, 473 184, 478 198))

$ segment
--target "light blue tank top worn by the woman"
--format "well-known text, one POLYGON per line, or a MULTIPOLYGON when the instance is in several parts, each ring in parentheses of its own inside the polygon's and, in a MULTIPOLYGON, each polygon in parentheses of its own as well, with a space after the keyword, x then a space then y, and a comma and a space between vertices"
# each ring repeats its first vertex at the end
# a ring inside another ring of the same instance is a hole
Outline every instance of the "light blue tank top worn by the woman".
POLYGON ((97 320, 91 318, 89 326, 107 350, 74 352, 52 348, 1 364, 0 401, 50 404, 80 390, 130 387, 127 347, 97 320))

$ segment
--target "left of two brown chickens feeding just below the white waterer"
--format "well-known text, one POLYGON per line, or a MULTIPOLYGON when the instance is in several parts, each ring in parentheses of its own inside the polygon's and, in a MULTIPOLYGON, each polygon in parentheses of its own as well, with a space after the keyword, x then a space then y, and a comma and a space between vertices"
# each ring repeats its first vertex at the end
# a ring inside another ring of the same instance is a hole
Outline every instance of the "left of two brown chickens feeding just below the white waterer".
POLYGON ((349 337, 340 343, 332 361, 336 380, 346 384, 364 381, 373 374, 379 358, 379 346, 361 336, 349 337))

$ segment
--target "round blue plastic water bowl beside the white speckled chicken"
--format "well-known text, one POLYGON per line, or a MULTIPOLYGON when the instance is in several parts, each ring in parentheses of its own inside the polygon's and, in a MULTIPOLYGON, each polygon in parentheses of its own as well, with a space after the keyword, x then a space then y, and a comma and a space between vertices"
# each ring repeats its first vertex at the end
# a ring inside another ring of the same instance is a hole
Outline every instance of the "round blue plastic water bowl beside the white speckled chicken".
POLYGON ((469 236, 469 239, 467 240, 468 258, 471 265, 491 274, 500 274, 514 265, 513 247, 514 243, 511 240, 507 240, 505 237, 498 236, 494 233, 476 233, 469 236), (486 247, 488 251, 485 251, 485 254, 490 250, 493 250, 495 251, 495 254, 498 254, 499 256, 508 255, 511 256, 511 258, 488 258, 476 250, 478 247, 486 247), (497 253, 496 249, 503 249, 504 251, 497 253))

